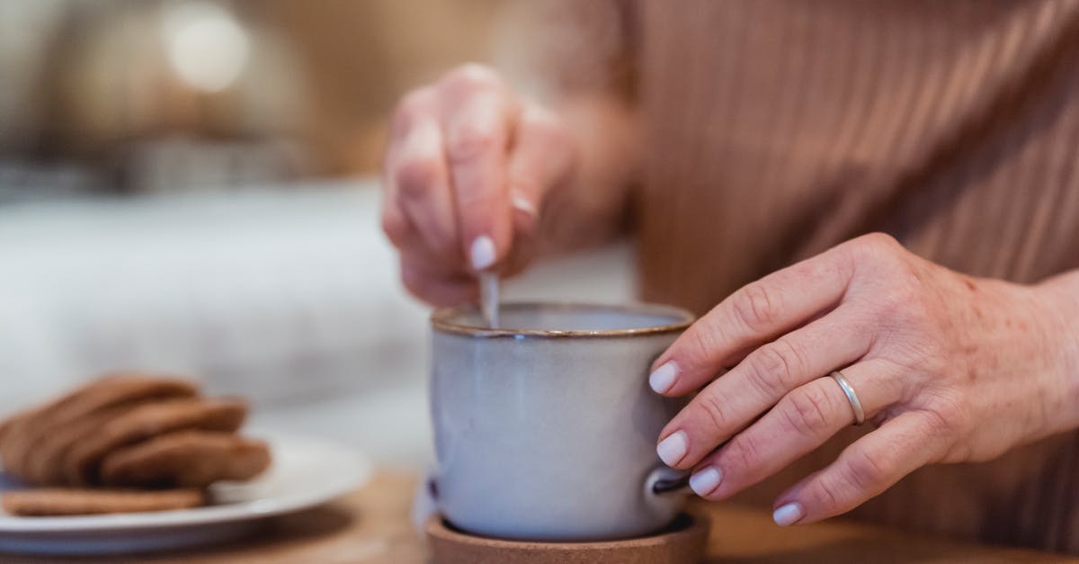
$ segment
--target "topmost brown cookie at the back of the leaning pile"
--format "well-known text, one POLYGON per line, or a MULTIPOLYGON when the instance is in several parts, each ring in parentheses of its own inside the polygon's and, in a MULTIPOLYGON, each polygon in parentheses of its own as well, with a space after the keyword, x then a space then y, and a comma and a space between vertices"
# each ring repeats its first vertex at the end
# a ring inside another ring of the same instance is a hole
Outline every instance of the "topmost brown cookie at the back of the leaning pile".
POLYGON ((16 414, 3 426, 0 457, 3 466, 21 478, 27 478, 26 456, 60 425, 99 409, 138 401, 192 397, 194 384, 177 379, 137 374, 115 374, 91 381, 51 402, 16 414))

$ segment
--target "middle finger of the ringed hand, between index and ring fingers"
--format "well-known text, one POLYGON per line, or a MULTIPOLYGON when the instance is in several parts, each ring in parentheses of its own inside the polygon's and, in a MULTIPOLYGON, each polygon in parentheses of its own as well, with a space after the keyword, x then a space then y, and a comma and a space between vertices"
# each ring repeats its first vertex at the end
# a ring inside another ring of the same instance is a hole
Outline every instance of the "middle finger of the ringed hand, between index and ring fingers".
POLYGON ((872 334, 849 308, 762 346, 708 385, 660 433, 664 462, 693 467, 791 390, 864 355, 872 334))

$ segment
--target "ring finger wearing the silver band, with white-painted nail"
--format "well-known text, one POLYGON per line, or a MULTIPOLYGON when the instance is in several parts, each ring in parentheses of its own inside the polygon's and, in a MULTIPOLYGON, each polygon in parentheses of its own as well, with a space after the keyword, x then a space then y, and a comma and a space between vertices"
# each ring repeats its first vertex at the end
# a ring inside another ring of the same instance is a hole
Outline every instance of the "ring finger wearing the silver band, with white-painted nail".
MULTIPOLYGON (((868 417, 902 398, 902 373, 874 359, 843 370, 868 417)), ((791 393, 694 469, 689 485, 708 499, 724 499, 778 472, 849 427, 853 411, 839 385, 817 378, 791 393)))

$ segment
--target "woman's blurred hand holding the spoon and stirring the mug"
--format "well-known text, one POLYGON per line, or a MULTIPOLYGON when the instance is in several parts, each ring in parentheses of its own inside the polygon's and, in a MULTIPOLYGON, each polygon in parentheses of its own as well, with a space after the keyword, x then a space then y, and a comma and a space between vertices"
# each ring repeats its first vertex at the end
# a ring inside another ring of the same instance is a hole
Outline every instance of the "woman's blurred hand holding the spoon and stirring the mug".
POLYGON ((570 145, 555 113, 479 65, 405 96, 386 151, 382 227, 406 287, 451 305, 476 297, 477 271, 522 267, 544 196, 572 167, 570 145))

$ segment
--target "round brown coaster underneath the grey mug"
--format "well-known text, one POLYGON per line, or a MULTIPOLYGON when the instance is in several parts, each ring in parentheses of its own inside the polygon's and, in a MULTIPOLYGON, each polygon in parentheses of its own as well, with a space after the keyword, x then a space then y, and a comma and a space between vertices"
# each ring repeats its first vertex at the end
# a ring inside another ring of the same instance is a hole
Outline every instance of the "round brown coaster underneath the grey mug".
POLYGON ((705 556, 708 520, 682 514, 666 533, 600 542, 534 542, 468 535, 432 515, 424 527, 435 564, 692 564, 705 556))

